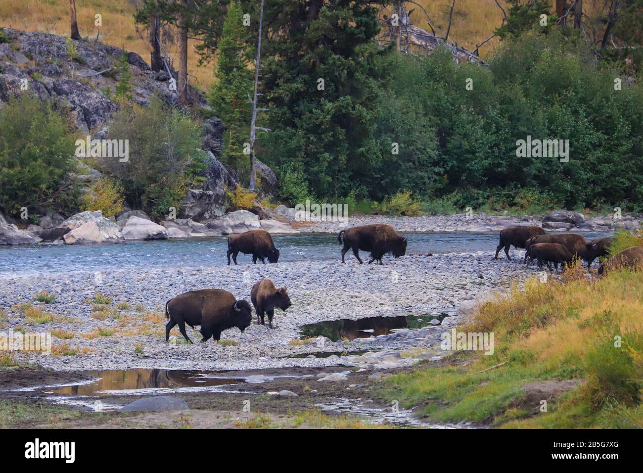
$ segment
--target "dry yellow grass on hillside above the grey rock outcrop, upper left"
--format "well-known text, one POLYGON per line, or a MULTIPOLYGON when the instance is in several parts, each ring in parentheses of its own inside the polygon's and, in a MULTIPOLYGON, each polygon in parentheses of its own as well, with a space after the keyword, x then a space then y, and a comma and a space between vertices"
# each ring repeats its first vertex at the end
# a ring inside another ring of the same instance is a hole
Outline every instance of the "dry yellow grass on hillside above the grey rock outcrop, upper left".
MULTIPOLYGON (((150 47, 145 31, 136 32, 134 6, 127 0, 77 0, 77 19, 80 35, 104 44, 134 51, 149 64, 150 47), (95 26, 95 15, 102 15, 102 26, 95 26)), ((0 26, 16 30, 55 33, 69 36, 68 0, 17 0, 0 1, 0 26)), ((194 50, 195 41, 188 44, 188 70, 194 76, 190 83, 205 89, 213 82, 213 67, 197 66, 199 55, 194 50)), ((165 46, 165 45, 164 45, 165 46)), ((178 58, 177 45, 167 46, 173 59, 178 58)), ((177 64, 177 60, 176 60, 177 64)))

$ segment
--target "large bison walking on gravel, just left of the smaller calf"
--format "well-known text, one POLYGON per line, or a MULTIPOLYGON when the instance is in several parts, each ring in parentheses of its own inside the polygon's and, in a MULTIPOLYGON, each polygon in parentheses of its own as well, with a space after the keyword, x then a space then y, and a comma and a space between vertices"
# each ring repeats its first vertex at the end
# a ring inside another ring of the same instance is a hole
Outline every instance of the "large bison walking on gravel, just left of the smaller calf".
POLYGON ((221 332, 237 327, 244 331, 252 320, 252 309, 247 301, 237 301, 228 291, 222 289, 201 289, 179 294, 165 303, 165 341, 170 338, 170 330, 179 325, 181 335, 192 343, 185 333, 185 324, 194 328, 201 326, 201 342, 212 337, 217 342, 221 332))

